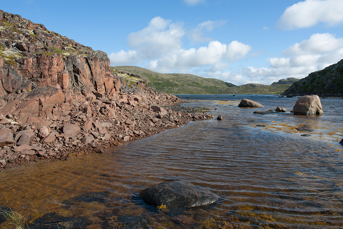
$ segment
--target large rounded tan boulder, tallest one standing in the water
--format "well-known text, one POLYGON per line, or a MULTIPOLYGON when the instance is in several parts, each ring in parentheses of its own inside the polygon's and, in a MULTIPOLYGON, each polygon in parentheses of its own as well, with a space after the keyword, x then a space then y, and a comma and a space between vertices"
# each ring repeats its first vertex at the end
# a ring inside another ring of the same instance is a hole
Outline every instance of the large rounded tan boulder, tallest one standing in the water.
POLYGON ((301 96, 293 107, 295 115, 317 115, 323 113, 318 95, 301 96))

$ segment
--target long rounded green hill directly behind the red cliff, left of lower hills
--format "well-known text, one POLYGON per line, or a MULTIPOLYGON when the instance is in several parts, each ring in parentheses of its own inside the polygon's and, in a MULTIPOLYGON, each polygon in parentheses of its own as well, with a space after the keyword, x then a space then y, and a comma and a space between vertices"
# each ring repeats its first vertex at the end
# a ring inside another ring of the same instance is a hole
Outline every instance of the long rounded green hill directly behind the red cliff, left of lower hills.
POLYGON ((152 89, 170 94, 217 94, 220 90, 235 86, 218 79, 191 74, 158 73, 137 66, 115 66, 112 69, 116 73, 140 77, 152 89))

